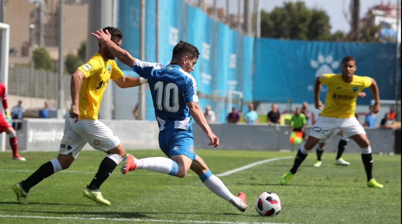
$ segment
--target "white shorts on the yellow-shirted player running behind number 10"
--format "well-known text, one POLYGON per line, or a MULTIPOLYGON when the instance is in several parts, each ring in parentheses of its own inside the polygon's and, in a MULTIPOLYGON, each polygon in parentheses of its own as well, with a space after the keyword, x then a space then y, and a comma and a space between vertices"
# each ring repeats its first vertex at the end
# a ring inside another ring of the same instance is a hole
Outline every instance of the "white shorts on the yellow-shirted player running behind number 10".
POLYGON ((120 144, 116 134, 99 120, 74 121, 70 117, 65 119, 59 154, 67 155, 72 152, 75 159, 86 143, 99 152, 106 152, 120 144))

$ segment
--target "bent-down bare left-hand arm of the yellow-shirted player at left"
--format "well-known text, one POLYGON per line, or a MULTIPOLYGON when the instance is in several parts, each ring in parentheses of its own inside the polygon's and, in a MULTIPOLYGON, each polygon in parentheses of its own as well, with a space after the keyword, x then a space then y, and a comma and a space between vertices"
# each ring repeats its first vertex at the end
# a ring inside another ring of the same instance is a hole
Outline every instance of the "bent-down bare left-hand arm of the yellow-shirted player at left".
POLYGON ((85 76, 79 69, 76 69, 71 76, 70 92, 72 103, 70 109, 70 118, 75 118, 74 123, 79 120, 79 91, 81 90, 83 79, 85 79, 85 76))

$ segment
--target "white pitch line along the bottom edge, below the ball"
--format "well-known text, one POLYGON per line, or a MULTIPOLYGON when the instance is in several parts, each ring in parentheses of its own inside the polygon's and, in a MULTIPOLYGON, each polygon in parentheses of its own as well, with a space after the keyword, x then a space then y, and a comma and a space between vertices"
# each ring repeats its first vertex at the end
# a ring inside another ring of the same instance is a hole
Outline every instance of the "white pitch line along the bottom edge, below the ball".
POLYGON ((111 221, 140 221, 140 222, 176 222, 176 223, 212 223, 212 224, 287 224, 276 222, 235 222, 235 221, 198 221, 198 220, 166 220, 141 218, 103 218, 103 217, 57 217, 57 216, 31 216, 31 215, 0 215, 9 218, 39 218, 39 219, 83 219, 83 220, 111 220, 111 221))

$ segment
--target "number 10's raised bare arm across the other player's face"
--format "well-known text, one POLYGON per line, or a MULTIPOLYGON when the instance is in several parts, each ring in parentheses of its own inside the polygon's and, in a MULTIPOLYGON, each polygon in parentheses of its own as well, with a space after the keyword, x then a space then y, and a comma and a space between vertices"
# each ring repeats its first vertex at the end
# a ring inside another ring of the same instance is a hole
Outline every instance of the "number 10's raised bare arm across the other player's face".
POLYGON ((131 68, 133 67, 136 58, 131 56, 126 50, 120 48, 120 46, 117 46, 115 42, 111 40, 112 36, 108 30, 106 30, 105 33, 102 29, 100 29, 95 31, 95 33, 91 33, 91 35, 96 38, 100 45, 106 46, 121 62, 130 66, 131 68))

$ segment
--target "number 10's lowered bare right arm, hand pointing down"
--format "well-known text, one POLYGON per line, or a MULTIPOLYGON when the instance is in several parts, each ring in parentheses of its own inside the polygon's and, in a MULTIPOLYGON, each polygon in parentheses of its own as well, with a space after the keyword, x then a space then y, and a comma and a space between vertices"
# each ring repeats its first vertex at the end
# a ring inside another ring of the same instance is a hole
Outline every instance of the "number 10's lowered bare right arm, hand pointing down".
POLYGON ((198 106, 196 102, 187 103, 188 112, 191 114, 192 119, 194 119, 195 123, 197 123, 201 129, 207 134, 208 139, 210 139, 210 143, 208 145, 213 145, 214 147, 218 147, 219 138, 212 133, 210 125, 208 125, 207 120, 205 119, 203 110, 198 106))

